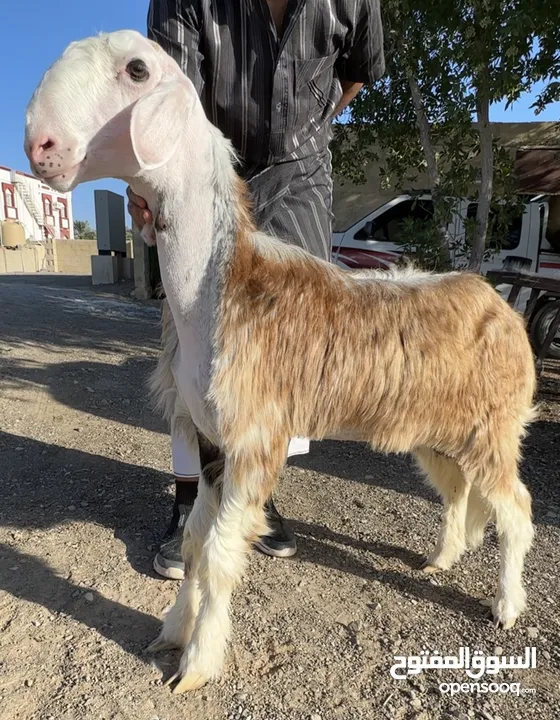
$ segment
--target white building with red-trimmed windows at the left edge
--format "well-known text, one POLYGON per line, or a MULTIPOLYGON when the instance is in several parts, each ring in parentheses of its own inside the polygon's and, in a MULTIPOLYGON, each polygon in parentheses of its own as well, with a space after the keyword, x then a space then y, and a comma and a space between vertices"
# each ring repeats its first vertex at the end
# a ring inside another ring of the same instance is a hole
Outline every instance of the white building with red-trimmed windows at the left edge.
POLYGON ((5 220, 18 222, 27 240, 73 239, 72 194, 0 165, 0 223, 5 220))

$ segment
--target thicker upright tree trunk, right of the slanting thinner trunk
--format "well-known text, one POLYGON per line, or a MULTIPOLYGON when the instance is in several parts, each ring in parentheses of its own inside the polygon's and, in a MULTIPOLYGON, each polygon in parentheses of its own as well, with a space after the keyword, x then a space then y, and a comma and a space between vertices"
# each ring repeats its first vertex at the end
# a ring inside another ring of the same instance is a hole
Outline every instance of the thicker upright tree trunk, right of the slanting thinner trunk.
POLYGON ((492 202, 494 179, 494 149, 492 145, 492 128, 490 127, 490 100, 485 91, 486 83, 477 88, 476 111, 480 142, 480 192, 476 211, 476 232, 473 238, 468 269, 480 272, 486 236, 488 234, 488 218, 492 202))

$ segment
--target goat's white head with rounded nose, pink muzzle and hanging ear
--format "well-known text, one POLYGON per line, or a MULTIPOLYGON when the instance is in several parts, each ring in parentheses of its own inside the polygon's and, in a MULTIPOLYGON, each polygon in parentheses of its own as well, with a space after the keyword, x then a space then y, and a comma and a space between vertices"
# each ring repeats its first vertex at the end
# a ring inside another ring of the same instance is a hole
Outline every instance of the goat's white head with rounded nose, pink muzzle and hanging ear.
POLYGON ((165 165, 197 102, 178 64, 140 33, 71 43, 44 74, 26 113, 33 174, 66 192, 165 165))

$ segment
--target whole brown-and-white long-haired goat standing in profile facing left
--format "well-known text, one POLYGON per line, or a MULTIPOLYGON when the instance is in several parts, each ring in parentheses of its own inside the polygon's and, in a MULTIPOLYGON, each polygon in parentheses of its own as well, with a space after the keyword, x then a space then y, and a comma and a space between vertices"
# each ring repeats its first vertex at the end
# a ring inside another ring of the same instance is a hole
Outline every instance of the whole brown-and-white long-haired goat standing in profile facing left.
POLYGON ((229 142, 137 32, 68 47, 30 102, 25 147, 54 189, 121 178, 155 218, 145 237, 172 320, 154 384, 185 432, 192 418, 204 476, 186 579, 155 643, 184 648, 176 692, 220 673, 231 593, 294 436, 416 456, 445 505, 428 572, 495 521, 493 614, 514 624, 533 537, 518 463, 535 373, 523 320, 485 280, 353 274, 258 232, 229 142))

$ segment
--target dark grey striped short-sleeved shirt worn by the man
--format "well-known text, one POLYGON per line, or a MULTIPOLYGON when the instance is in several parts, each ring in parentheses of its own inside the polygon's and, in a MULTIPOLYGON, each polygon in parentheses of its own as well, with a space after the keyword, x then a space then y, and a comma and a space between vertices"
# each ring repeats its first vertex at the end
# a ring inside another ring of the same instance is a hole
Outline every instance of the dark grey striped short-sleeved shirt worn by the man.
POLYGON ((246 169, 326 149, 340 81, 385 70, 379 0, 288 0, 281 33, 266 0, 151 0, 148 37, 194 83, 246 169))

